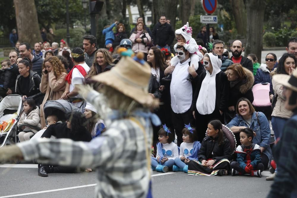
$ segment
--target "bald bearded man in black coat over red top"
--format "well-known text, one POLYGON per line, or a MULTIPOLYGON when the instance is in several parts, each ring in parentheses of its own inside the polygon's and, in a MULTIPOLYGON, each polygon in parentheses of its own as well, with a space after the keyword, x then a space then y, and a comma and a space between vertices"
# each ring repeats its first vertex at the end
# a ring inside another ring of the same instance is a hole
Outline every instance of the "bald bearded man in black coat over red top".
POLYGON ((236 40, 232 43, 232 56, 230 60, 233 63, 240 63, 243 67, 247 68, 249 71, 254 72, 253 63, 248 58, 241 56, 244 51, 243 44, 240 40, 236 40))

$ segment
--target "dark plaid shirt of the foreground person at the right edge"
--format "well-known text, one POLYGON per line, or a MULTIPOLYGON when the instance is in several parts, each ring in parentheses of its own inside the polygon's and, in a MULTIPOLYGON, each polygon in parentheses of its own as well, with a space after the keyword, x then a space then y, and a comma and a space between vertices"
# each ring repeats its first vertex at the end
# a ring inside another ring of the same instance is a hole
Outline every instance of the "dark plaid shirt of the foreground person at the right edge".
POLYGON ((297 189, 296 140, 297 110, 286 122, 282 137, 275 145, 273 156, 277 163, 277 175, 267 197, 290 197, 292 191, 297 189))

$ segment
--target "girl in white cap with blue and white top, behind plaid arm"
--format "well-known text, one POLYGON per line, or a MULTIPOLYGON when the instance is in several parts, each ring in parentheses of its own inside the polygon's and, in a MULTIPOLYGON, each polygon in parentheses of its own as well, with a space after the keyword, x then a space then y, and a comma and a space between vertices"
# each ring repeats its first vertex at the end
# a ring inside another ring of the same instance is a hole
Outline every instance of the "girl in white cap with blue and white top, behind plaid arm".
POLYGON ((105 131, 105 123, 99 118, 97 110, 89 103, 85 107, 84 115, 87 119, 87 130, 91 133, 92 138, 98 137, 105 131))

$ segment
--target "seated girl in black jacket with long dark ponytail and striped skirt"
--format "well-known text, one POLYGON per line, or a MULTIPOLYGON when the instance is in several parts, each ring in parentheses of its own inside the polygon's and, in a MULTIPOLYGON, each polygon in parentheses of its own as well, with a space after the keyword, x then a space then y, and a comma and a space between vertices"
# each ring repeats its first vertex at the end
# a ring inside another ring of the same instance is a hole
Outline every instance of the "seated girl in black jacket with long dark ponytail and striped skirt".
POLYGON ((228 175, 231 148, 229 140, 224 137, 221 121, 213 120, 208 123, 206 134, 198 160, 191 160, 188 164, 188 175, 228 175))

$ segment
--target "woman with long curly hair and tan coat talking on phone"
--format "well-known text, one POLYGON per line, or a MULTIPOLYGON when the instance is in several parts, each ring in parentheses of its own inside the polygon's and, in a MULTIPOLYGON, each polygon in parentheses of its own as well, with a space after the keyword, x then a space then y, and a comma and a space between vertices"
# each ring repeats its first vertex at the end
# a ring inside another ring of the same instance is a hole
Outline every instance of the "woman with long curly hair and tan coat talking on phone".
POLYGON ((66 83, 66 69, 62 62, 56 56, 45 58, 42 67, 42 76, 40 83, 40 92, 45 94, 42 104, 40 105, 40 123, 45 127, 45 118, 43 105, 48 100, 57 100, 64 93, 66 83))

